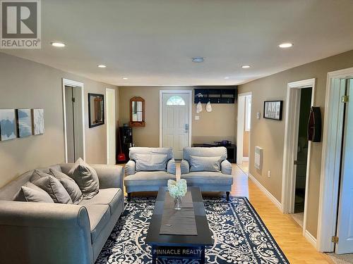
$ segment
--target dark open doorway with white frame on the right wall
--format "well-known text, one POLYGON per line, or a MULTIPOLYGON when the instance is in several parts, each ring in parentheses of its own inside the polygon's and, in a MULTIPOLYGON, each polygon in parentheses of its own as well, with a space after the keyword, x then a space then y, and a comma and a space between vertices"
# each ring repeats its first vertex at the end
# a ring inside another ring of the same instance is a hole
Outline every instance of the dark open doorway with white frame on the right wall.
POLYGON ((308 121, 315 91, 315 79, 290 82, 287 86, 285 148, 282 171, 282 210, 290 213, 306 231, 307 194, 311 142, 307 139, 308 121))

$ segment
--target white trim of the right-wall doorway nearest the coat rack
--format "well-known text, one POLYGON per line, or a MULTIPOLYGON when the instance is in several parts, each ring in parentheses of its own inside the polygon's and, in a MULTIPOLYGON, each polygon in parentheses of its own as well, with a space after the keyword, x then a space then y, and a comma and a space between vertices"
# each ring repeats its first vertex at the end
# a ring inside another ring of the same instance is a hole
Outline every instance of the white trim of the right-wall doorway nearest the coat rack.
MULTIPOLYGON (((238 94, 238 114, 237 114, 237 164, 241 164, 244 161, 243 153, 244 153, 244 125, 245 125, 245 97, 251 95, 251 101, 252 101, 252 92, 246 92, 242 94, 238 94), (244 103, 241 103, 240 100, 244 97, 244 103), (243 107, 239 107, 242 105, 243 107), (241 142, 241 144, 239 144, 241 142)), ((253 104, 251 103, 251 108, 253 104)), ((252 113, 252 109, 251 109, 252 113)), ((251 121, 250 121, 250 127, 251 127, 251 121)), ((251 129, 250 129, 251 131, 251 129)), ((251 141, 251 134, 249 135, 249 158, 251 155, 250 151, 250 141, 251 141)))

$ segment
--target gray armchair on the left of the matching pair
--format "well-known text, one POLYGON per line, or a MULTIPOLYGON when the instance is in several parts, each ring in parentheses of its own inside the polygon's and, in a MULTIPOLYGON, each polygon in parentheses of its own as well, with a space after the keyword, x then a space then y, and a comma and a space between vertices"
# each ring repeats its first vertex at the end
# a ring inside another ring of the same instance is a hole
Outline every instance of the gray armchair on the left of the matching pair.
POLYGON ((176 180, 172 148, 132 147, 125 165, 124 184, 128 199, 135 191, 158 191, 176 180))

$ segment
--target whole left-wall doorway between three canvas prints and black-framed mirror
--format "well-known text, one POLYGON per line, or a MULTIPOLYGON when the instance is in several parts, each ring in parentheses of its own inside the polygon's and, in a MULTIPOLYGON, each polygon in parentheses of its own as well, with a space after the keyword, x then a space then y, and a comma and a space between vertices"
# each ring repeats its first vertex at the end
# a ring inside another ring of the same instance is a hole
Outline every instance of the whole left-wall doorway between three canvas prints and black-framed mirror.
POLYGON ((65 162, 85 160, 83 83, 63 79, 65 162))

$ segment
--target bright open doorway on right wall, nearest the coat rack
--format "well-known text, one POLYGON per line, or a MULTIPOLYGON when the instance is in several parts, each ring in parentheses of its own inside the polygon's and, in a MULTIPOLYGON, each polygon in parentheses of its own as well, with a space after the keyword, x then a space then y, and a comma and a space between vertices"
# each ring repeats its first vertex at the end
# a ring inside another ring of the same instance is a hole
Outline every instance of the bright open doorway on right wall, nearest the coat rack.
POLYGON ((249 173, 251 92, 238 96, 237 164, 249 173))

